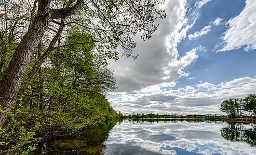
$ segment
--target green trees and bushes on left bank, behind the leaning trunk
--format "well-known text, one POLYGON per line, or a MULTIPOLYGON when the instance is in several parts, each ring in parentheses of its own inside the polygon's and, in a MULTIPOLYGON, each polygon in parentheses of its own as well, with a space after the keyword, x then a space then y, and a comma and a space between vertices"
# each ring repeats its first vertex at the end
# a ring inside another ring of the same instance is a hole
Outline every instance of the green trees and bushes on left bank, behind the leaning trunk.
POLYGON ((50 65, 33 79, 26 76, 19 107, 0 128, 0 150, 29 154, 42 137, 80 132, 119 116, 103 95, 115 89, 112 72, 93 55, 93 43, 79 41, 90 41, 90 35, 70 34, 70 45, 53 51, 50 65))

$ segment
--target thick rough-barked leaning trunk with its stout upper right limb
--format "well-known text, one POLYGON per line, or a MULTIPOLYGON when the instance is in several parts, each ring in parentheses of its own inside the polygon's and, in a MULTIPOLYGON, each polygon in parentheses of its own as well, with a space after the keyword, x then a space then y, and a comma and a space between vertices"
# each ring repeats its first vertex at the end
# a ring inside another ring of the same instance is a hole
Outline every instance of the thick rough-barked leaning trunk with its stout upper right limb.
MULTIPOLYGON (((53 19, 59 19, 75 14, 82 8, 83 4, 83 0, 77 0, 76 4, 72 7, 50 9, 49 0, 39 1, 37 15, 31 27, 28 29, 28 32, 26 32, 25 36, 18 44, 14 56, 7 67, 3 81, 1 82, 1 105, 5 112, 10 112, 11 108, 14 106, 15 98, 18 95, 31 56, 39 42, 42 40, 49 23, 52 22, 53 19)), ((0 125, 3 125, 6 119, 7 115, 2 115, 0 118, 0 125)))

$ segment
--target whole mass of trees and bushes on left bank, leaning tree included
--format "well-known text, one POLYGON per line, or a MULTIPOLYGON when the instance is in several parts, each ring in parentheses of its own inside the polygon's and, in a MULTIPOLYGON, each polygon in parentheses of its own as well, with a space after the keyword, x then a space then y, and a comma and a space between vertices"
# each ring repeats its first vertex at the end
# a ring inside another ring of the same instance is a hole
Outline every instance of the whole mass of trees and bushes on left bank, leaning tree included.
POLYGON ((137 58, 133 37, 151 38, 161 2, 0 1, 0 153, 120 117, 104 96, 116 89, 107 60, 137 58))

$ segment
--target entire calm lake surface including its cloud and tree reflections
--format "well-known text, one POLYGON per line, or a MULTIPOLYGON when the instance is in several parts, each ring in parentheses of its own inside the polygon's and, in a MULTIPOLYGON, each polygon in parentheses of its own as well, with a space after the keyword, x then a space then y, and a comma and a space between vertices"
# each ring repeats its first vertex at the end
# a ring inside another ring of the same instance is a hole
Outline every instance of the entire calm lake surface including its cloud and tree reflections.
MULTIPOLYGON (((216 120, 123 120, 45 142, 41 154, 256 154, 256 124, 216 120)), ((39 153, 38 152, 38 153, 39 153)))

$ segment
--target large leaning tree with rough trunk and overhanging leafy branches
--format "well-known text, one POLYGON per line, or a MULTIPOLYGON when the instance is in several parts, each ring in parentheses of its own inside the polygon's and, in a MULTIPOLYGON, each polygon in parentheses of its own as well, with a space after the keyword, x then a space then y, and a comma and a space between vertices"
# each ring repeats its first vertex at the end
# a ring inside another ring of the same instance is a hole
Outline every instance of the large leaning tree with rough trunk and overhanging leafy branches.
MULTIPOLYGON (((36 3, 35 0, 32 10, 36 3)), ((46 30, 51 29, 50 24, 61 25, 58 20, 76 15, 66 19, 68 23, 65 25, 78 25, 79 28, 90 32, 93 40, 97 42, 96 49, 103 62, 106 62, 107 58, 118 59, 116 51, 118 45, 123 49, 122 55, 136 58, 137 55, 132 55, 132 49, 136 46, 133 36, 141 32, 141 39, 150 39, 158 26, 155 20, 166 17, 164 10, 158 10, 157 3, 160 1, 91 0, 85 2, 85 0, 77 0, 73 3, 72 0, 39 0, 37 14, 34 16, 33 11, 31 12, 30 19, 33 22, 30 23, 28 31, 19 42, 1 81, 0 102, 6 113, 1 116, 0 125, 3 125, 7 119, 7 113, 15 105, 14 101, 31 57, 38 44, 44 39, 46 30)), ((53 46, 55 43, 53 42, 53 46)), ((84 42, 77 44, 84 44, 84 42)), ((47 57, 50 54, 48 53, 47 57)), ((42 63, 37 64, 36 67, 40 65, 42 63)))

